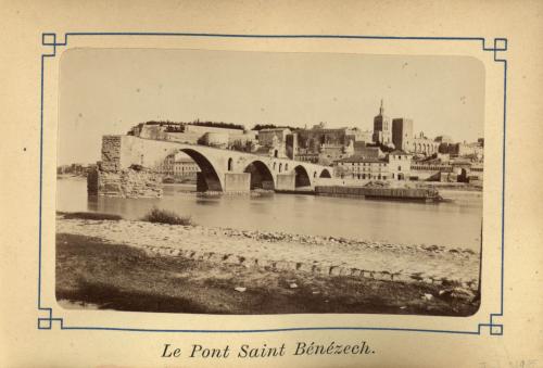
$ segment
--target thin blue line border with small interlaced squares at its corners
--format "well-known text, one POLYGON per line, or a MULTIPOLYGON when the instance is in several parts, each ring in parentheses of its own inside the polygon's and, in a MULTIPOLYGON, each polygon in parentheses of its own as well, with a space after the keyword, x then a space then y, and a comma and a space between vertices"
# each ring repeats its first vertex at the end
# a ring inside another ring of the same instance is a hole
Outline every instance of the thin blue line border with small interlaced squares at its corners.
POLYGON ((507 60, 497 58, 497 52, 507 51, 507 38, 494 38, 493 47, 487 47, 483 37, 401 37, 401 36, 356 36, 356 35, 236 35, 236 34, 200 34, 200 33, 66 33, 64 42, 56 42, 56 34, 43 33, 41 45, 52 47, 51 53, 41 54, 41 91, 40 91, 40 155, 39 155, 39 230, 38 230, 38 310, 46 313, 46 317, 38 317, 39 330, 51 330, 52 322, 60 322, 61 330, 103 330, 103 331, 128 331, 128 332, 192 332, 192 333, 251 333, 251 332, 280 332, 280 331, 313 331, 313 330, 369 330, 369 331, 405 331, 405 332, 433 332, 433 333, 455 333, 455 334, 481 334, 482 328, 489 328, 491 335, 502 335, 503 325, 497 323, 494 318, 504 315, 504 262, 505 262, 505 149, 506 149, 506 116, 507 116, 507 60), (378 40, 421 40, 421 41, 475 41, 481 42, 483 51, 494 53, 494 61, 504 65, 504 115, 502 142, 502 258, 501 258, 501 288, 500 288, 500 312, 489 316, 488 323, 479 323, 475 331, 455 330, 431 330, 393 327, 294 327, 261 330, 175 330, 175 329, 136 329, 136 328, 113 328, 113 327, 83 327, 64 326, 63 318, 53 317, 53 309, 42 306, 41 303, 41 212, 42 212, 42 181, 43 181, 43 67, 47 58, 56 55, 58 46, 67 46, 68 37, 76 36, 160 36, 160 37, 222 37, 222 38, 301 38, 301 39, 378 39, 378 40))

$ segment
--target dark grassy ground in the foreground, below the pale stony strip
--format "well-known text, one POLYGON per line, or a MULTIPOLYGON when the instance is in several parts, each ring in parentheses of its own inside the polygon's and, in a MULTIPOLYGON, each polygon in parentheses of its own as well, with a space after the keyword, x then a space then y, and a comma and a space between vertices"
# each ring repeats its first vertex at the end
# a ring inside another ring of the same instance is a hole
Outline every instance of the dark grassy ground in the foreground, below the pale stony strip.
POLYGON ((153 256, 99 238, 56 237, 56 299, 63 307, 237 315, 473 314, 478 301, 459 290, 153 256))

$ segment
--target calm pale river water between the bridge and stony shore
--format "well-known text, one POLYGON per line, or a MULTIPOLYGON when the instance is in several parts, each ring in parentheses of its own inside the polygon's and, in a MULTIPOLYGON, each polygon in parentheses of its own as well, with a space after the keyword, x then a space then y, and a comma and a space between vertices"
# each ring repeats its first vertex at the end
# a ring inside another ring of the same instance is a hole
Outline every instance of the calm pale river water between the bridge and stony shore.
MULTIPOLYGON (((198 196, 184 186, 165 186, 161 199, 87 196, 81 178, 56 180, 58 211, 91 211, 142 217, 151 207, 190 215, 210 227, 334 236, 402 244, 479 250, 482 193, 447 191, 452 203, 411 203, 307 194, 198 196)), ((443 192, 443 194, 445 194, 443 192)))

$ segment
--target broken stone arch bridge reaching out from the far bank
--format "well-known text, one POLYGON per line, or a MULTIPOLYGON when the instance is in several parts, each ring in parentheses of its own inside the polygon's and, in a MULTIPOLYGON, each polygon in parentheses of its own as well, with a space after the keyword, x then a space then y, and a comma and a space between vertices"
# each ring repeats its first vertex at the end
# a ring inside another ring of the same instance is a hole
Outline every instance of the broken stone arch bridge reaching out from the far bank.
POLYGON ((152 170, 177 152, 186 153, 200 167, 198 191, 312 191, 319 178, 332 174, 331 167, 312 163, 134 136, 103 137, 101 170, 121 173, 135 165, 152 170))

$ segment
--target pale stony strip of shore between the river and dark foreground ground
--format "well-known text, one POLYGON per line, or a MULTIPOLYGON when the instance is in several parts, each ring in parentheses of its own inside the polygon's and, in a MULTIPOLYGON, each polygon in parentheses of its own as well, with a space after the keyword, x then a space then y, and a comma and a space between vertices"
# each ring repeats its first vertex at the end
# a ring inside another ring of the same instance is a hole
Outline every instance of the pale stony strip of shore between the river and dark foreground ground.
POLYGON ((479 278, 479 254, 439 245, 390 244, 358 239, 323 238, 281 232, 244 231, 201 226, 185 227, 135 220, 56 220, 58 233, 96 237, 137 248, 237 255, 274 262, 294 262, 387 271, 421 280, 469 282, 479 278))

